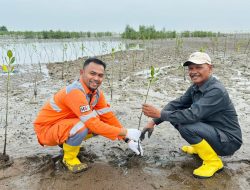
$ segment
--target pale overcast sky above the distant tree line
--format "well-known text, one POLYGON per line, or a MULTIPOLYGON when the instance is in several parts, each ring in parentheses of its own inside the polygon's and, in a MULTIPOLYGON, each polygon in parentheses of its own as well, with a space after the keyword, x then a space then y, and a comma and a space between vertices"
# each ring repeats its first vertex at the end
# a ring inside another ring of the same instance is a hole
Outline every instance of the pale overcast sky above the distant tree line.
POLYGON ((9 30, 250 32, 250 0, 0 0, 9 30))

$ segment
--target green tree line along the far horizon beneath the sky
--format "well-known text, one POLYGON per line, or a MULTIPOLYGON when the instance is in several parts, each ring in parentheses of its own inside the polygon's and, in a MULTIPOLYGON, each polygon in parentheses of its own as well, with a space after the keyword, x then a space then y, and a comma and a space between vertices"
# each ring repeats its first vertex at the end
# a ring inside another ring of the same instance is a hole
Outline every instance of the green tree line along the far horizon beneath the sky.
MULTIPOLYGON (((6 26, 0 26, 0 36, 8 35, 16 38, 25 39, 65 39, 65 38, 90 38, 90 37, 112 37, 112 32, 67 32, 67 31, 8 31, 6 26)), ((127 25, 125 31, 121 34, 124 39, 165 39, 177 37, 219 37, 223 34, 211 31, 166 31, 165 29, 156 30, 154 26, 139 26, 139 31, 136 31, 131 26, 127 25)))

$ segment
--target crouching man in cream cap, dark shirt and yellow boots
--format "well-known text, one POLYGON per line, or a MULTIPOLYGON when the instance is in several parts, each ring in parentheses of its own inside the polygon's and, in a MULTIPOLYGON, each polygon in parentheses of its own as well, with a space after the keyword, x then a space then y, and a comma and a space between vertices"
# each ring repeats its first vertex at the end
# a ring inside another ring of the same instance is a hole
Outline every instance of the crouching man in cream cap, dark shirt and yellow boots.
POLYGON ((169 121, 190 144, 182 150, 198 154, 202 166, 193 171, 198 178, 209 178, 223 169, 220 156, 232 155, 241 147, 242 134, 234 105, 225 87, 212 76, 213 66, 206 53, 195 52, 183 66, 188 67, 193 84, 161 111, 144 104, 142 111, 153 118, 142 131, 150 135, 154 126, 169 121))

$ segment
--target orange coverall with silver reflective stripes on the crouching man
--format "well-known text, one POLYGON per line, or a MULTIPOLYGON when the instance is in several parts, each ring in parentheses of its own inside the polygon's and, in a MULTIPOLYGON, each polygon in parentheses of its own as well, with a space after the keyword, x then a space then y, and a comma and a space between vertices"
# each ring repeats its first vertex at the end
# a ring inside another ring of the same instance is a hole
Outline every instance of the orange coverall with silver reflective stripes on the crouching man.
POLYGON ((47 101, 34 121, 34 128, 41 145, 54 146, 86 128, 89 133, 111 140, 121 139, 122 125, 110 110, 102 91, 92 92, 79 80, 47 101))

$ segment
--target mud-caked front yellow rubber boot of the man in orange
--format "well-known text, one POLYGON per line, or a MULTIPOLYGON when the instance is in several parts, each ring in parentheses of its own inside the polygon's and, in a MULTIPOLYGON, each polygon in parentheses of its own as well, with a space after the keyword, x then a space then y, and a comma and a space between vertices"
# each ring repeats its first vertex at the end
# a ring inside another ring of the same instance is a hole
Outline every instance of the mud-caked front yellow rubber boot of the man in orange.
POLYGON ((79 173, 88 169, 88 165, 81 163, 77 158, 80 151, 80 146, 70 146, 66 143, 63 144, 63 164, 73 173, 79 173))

